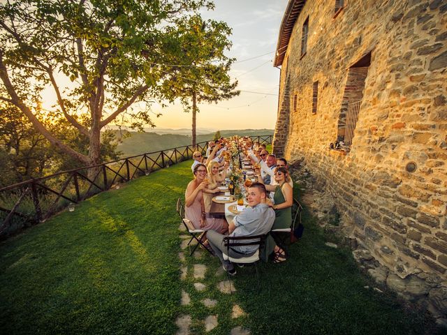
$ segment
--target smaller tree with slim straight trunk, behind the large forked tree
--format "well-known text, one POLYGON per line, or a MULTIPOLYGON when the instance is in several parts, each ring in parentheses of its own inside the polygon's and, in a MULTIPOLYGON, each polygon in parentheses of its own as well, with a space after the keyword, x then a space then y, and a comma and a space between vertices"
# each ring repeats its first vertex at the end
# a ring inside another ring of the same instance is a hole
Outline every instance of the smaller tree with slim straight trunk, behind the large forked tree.
POLYGON ((235 59, 226 56, 231 29, 225 22, 203 20, 200 15, 177 22, 176 48, 181 59, 167 70, 170 80, 163 82, 164 93, 171 101, 179 98, 185 112, 192 112, 192 144, 196 144, 198 103, 217 103, 240 94, 237 81, 228 74, 235 59), (197 47, 191 48, 191 45, 197 47))

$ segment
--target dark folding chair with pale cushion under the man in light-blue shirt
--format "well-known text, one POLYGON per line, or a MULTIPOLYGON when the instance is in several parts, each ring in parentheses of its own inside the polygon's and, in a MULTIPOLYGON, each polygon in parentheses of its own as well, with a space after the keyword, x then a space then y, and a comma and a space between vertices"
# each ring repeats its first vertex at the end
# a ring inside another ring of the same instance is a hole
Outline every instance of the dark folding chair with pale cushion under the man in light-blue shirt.
MULTIPOLYGON (((263 235, 254 235, 254 236, 240 236, 233 237, 227 236, 223 238, 223 246, 226 246, 226 253, 222 253, 224 260, 229 260, 232 263, 237 264, 254 264, 256 268, 256 278, 258 279, 258 289, 259 289, 259 275, 258 275, 258 262, 259 262, 259 249, 263 248, 265 245, 265 239, 267 238, 266 234, 263 235), (246 256, 242 258, 232 258, 228 256, 230 248, 235 246, 258 246, 256 252, 251 256, 246 256)), ((230 274, 228 274, 228 281, 230 281, 230 274)), ((231 290, 231 285, 230 285, 231 290)))

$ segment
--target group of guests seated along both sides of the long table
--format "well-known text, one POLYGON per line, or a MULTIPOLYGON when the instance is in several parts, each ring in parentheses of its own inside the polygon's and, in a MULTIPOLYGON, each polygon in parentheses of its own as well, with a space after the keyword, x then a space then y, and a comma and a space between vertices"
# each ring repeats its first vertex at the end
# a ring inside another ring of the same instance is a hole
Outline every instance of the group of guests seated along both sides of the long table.
MULTIPOLYGON (((235 275, 231 262, 223 260, 227 253, 223 238, 268 234, 271 230, 290 228, 292 223, 293 182, 288 173, 287 161, 269 154, 264 144, 253 143, 249 137, 242 137, 240 146, 244 156, 255 166, 258 181, 247 187, 249 207, 227 222, 224 218, 210 216, 210 207, 214 193, 220 192, 218 186, 225 180, 228 163, 224 152, 228 149, 228 140, 221 138, 208 144, 207 157, 200 151, 193 153, 191 170, 194 179, 186 187, 185 217, 196 229, 205 230, 201 237, 205 246, 212 248, 222 262, 228 274, 235 275), (269 196, 270 193, 270 196, 269 196)), ((230 258, 242 258, 253 255, 258 246, 235 246, 229 249, 230 258)), ((268 234, 261 258, 273 262, 286 260, 286 253, 278 246, 271 234, 268 234)))

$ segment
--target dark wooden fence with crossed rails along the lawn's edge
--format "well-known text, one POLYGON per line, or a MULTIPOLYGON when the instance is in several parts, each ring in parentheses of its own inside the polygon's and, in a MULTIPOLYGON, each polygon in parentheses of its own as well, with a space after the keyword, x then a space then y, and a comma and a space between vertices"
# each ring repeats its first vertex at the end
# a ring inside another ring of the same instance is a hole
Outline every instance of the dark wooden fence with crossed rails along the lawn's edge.
MULTIPOLYGON (((272 143, 272 135, 250 137, 261 143, 272 143)), ((207 147, 208 142, 200 142, 153 151, 0 188, 0 239, 45 221, 68 204, 77 204, 92 195, 118 187, 122 182, 187 161, 194 151, 204 153, 207 147), (96 171, 94 177, 89 177, 89 170, 96 171)))

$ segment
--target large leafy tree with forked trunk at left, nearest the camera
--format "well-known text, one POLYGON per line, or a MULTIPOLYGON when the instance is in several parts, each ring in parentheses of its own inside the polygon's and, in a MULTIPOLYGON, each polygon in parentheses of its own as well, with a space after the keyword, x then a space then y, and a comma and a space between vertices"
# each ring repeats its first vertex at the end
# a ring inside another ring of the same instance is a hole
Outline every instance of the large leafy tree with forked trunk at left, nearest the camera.
MULTIPOLYGON (((133 104, 159 97, 166 73, 152 71, 151 64, 177 57, 177 22, 203 6, 213 7, 206 0, 2 1, 0 99, 19 108, 55 147, 84 165, 98 164, 101 129, 133 104), (68 85, 61 89, 61 82, 68 85), (89 139, 88 154, 34 114, 47 86, 57 110, 89 139)), ((133 117, 137 126, 151 124, 148 110, 133 117)))

